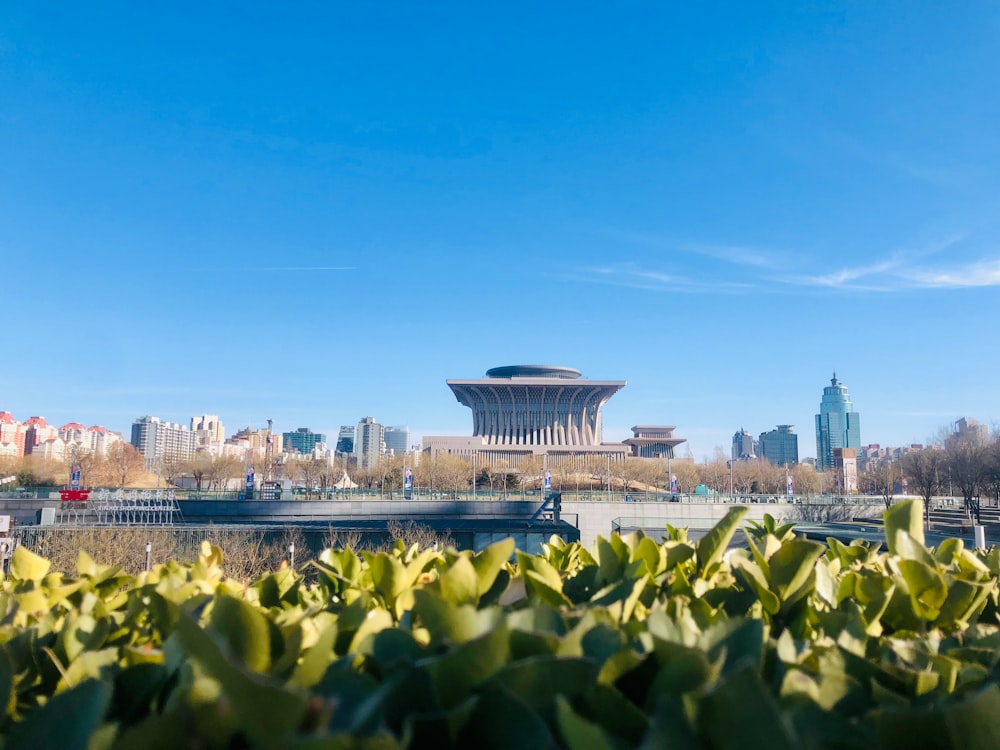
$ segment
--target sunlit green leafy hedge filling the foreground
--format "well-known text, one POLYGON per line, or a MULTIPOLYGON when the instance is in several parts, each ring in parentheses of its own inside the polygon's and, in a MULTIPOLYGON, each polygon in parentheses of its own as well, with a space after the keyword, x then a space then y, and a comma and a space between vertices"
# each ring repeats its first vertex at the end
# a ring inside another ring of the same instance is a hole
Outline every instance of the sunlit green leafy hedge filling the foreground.
POLYGON ((326 550, 244 586, 217 548, 132 577, 19 548, 7 748, 1000 747, 1000 552, 795 536, 733 508, 478 554, 326 550), (734 535, 746 547, 727 552, 734 535), (304 575, 306 573, 308 575, 304 575))

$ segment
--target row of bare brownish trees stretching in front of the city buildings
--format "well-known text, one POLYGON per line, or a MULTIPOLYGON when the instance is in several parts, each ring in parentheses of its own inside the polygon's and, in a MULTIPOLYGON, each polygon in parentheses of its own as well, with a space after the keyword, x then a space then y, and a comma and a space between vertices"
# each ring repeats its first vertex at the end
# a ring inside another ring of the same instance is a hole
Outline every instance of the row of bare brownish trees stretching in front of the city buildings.
MULTIPOLYGON (((911 451, 899 461, 873 463, 859 476, 864 494, 880 496, 886 506, 893 497, 906 491, 929 500, 939 494, 961 496, 970 510, 977 511, 985 496, 1000 503, 1000 435, 950 434, 939 432, 940 447, 911 451)), ((148 483, 142 456, 131 445, 119 444, 104 456, 81 455, 84 484, 92 487, 128 487, 148 483)), ((69 463, 42 461, 27 456, 22 459, 0 458, 0 476, 15 476, 19 486, 64 485, 69 477, 69 463)), ((606 458, 553 462, 552 486, 562 490, 614 489, 622 492, 669 491, 671 476, 678 492, 694 492, 703 485, 728 494, 784 494, 789 482, 797 495, 817 495, 834 489, 831 474, 820 474, 813 467, 773 466, 766 461, 726 460, 721 449, 712 459, 696 464, 689 459, 638 459, 608 461, 606 458)), ((311 457, 285 457, 275 461, 269 474, 286 478, 308 497, 325 497, 346 475, 354 484, 367 490, 403 489, 405 468, 413 472, 413 485, 432 492, 467 492, 478 490, 509 491, 541 489, 545 466, 541 458, 523 459, 518 467, 489 464, 482 459, 469 461, 459 456, 423 455, 387 457, 375 467, 358 467, 341 457, 333 461, 311 457), (414 463, 415 465, 410 465, 414 463)), ((192 459, 167 462, 159 467, 162 481, 176 483, 190 477, 199 490, 222 491, 239 487, 246 466, 239 458, 198 454, 192 459)), ((268 475, 268 467, 257 467, 257 476, 268 475)))

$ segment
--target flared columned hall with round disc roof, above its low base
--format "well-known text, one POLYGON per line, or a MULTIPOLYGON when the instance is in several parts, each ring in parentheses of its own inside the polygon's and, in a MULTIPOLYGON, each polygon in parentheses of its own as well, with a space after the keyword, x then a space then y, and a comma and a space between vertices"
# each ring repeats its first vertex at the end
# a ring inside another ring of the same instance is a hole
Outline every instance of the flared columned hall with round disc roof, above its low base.
POLYGON ((512 365, 478 380, 448 380, 472 410, 473 435, 486 445, 584 447, 601 444, 601 407, 624 380, 587 380, 579 370, 512 365))

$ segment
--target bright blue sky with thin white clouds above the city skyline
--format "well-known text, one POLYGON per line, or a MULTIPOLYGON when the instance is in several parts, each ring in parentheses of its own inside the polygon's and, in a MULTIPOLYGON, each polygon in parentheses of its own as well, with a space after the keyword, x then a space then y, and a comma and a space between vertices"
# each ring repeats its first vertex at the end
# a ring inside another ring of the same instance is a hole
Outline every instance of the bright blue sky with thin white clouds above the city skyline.
MULTIPOLYGON (((696 458, 1000 421, 1000 8, 6 3, 0 410, 468 434, 628 386, 696 458)), ((683 448, 682 448, 683 452, 683 448)))

